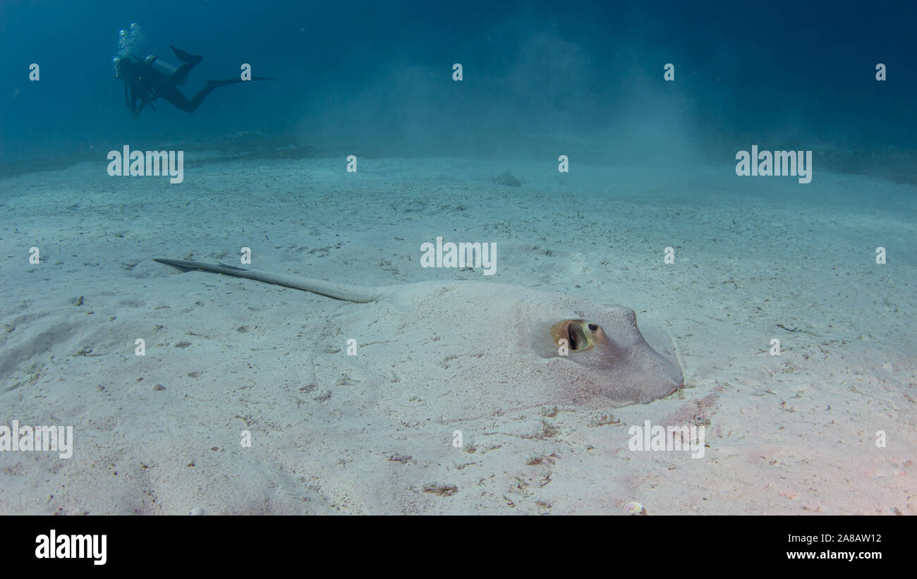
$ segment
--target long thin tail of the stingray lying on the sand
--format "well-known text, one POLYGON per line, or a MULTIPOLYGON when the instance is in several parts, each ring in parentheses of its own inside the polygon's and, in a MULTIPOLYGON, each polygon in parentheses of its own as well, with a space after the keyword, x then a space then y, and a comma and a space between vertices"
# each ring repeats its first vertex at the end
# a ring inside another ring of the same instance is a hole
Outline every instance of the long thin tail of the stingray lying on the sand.
POLYGON ((326 281, 325 279, 300 278, 298 276, 287 276, 275 274, 260 269, 238 268, 222 263, 209 264, 203 261, 191 261, 189 259, 164 259, 154 257, 153 261, 171 266, 172 268, 181 269, 182 271, 209 271, 211 273, 220 273, 225 276, 234 278, 246 278, 271 283, 284 288, 302 289, 311 291, 327 298, 335 300, 353 301, 354 303, 367 303, 370 301, 380 300, 383 297, 383 291, 376 288, 365 288, 361 286, 350 286, 347 284, 326 281))

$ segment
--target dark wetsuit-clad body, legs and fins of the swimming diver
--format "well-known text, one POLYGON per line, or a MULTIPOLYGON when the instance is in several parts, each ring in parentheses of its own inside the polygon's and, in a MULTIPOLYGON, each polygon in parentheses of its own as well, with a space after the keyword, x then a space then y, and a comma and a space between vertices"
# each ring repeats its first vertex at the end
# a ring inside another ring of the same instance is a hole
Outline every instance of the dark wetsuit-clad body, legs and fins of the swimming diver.
MULTIPOLYGON (((184 64, 172 72, 170 76, 154 70, 149 64, 142 60, 122 60, 121 67, 125 74, 124 98, 127 108, 130 109, 131 115, 137 116, 143 107, 151 102, 161 98, 169 101, 175 108, 181 109, 186 113, 193 113, 197 107, 204 102, 204 98, 215 88, 234 84, 236 82, 245 82, 242 79, 227 79, 226 81, 207 81, 197 94, 189 101, 177 88, 177 84, 182 82, 188 72, 203 60, 200 55, 188 54, 184 50, 171 47, 175 52, 178 60, 184 64), (139 101, 139 106, 138 106, 139 101)), ((269 77, 252 77, 252 81, 272 81, 269 77)), ((153 107, 155 110, 156 107, 153 107)))

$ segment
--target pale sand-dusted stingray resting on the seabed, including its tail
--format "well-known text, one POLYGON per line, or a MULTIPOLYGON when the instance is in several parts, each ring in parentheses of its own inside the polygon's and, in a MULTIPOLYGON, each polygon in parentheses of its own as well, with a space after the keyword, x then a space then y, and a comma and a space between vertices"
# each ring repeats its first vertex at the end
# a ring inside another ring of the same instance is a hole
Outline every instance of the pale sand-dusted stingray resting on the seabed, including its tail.
POLYGON ((447 409, 440 416, 552 402, 621 407, 666 397, 684 384, 668 334, 655 323, 641 322, 641 331, 635 311, 623 306, 497 282, 362 287, 226 264, 155 261, 371 304, 337 316, 340 333, 362 342, 359 375, 394 405, 409 406, 420 394, 438 400, 447 409))

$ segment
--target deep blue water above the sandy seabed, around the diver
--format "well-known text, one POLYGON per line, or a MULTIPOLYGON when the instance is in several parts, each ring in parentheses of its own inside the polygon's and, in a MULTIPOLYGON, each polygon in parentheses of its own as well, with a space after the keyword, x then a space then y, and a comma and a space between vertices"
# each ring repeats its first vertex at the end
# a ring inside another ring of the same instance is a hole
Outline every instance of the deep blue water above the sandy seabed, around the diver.
POLYGON ((730 162, 758 142, 913 149, 915 24, 909 2, 5 1, 0 163, 243 131, 318 154, 532 158, 562 146, 597 162, 730 162), (160 100, 131 119, 112 68, 131 23, 150 54, 204 56, 186 96, 241 62, 280 80, 218 89, 193 114, 160 100), (668 62, 675 82, 662 80, 668 62))

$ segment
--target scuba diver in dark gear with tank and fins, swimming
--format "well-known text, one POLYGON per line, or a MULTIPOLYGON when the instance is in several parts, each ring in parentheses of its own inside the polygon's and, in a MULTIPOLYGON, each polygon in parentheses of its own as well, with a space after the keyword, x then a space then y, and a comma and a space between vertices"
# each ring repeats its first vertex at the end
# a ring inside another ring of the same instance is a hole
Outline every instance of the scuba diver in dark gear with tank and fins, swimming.
MULTIPOLYGON (((131 32, 138 32, 137 25, 131 25, 131 32)), ((121 31, 122 41, 126 38, 126 31, 121 31)), ((127 108, 130 109, 132 117, 137 118, 140 111, 149 104, 154 111, 153 101, 156 99, 165 99, 176 108, 193 113, 197 107, 204 102, 204 98, 215 88, 235 84, 236 82, 247 82, 241 78, 227 79, 226 81, 207 81, 206 86, 195 94, 189 101, 178 86, 188 80, 188 72, 191 71, 204 57, 196 54, 188 54, 184 50, 171 47, 175 52, 178 60, 182 61, 182 66, 176 67, 170 62, 160 59, 157 56, 149 55, 143 60, 138 59, 127 50, 122 50, 121 54, 115 57, 115 78, 124 79, 124 100, 127 108)), ((267 76, 253 76, 252 81, 275 81, 267 76)))

